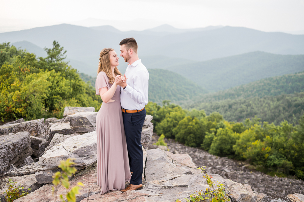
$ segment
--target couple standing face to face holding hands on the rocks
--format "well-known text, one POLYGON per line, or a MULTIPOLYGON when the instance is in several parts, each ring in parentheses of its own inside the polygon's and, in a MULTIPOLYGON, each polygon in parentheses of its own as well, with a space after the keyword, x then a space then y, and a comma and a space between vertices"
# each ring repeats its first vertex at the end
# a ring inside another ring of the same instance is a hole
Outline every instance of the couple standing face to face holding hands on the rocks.
POLYGON ((120 56, 129 65, 124 75, 114 49, 99 55, 96 95, 102 106, 96 116, 97 185, 100 194, 142 188, 143 150, 141 130, 146 118, 149 72, 137 55, 134 38, 123 39, 120 56), (125 188, 125 182, 130 181, 125 188))

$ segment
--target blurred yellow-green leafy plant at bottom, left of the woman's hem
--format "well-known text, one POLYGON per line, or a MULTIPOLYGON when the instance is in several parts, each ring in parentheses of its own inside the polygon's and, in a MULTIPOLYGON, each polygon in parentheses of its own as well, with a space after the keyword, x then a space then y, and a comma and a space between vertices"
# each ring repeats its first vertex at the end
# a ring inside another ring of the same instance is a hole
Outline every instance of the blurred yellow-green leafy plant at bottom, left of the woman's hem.
MULTIPOLYGON (((56 172, 52 177, 53 181, 52 183, 54 186, 52 187, 52 194, 55 194, 55 198, 57 200, 57 186, 60 184, 66 188, 66 190, 69 189, 70 183, 69 183, 69 177, 72 177, 76 173, 76 168, 72 167, 75 163, 71 161, 71 159, 67 159, 66 161, 61 160, 59 164, 59 168, 61 168, 62 173, 60 171, 56 172), (56 189, 56 190, 55 190, 56 189)), ((84 187, 84 184, 81 182, 77 183, 79 186, 84 187)), ((66 194, 66 200, 67 202, 76 202, 76 194, 79 194, 78 190, 81 189, 79 186, 74 186, 71 188, 70 191, 67 191, 66 194)), ((65 202, 64 196, 60 194, 60 201, 65 202)))

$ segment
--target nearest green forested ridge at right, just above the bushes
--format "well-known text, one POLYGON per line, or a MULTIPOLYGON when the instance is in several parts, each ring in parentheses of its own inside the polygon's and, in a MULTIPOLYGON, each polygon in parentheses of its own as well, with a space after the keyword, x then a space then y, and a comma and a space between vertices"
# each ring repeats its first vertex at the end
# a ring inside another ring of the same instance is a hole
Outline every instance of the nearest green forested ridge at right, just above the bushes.
POLYGON ((289 95, 254 97, 214 101, 196 104, 195 109, 203 109, 206 114, 219 112, 227 121, 242 122, 257 116, 261 121, 278 125, 283 120, 297 123, 304 114, 304 93, 289 95))

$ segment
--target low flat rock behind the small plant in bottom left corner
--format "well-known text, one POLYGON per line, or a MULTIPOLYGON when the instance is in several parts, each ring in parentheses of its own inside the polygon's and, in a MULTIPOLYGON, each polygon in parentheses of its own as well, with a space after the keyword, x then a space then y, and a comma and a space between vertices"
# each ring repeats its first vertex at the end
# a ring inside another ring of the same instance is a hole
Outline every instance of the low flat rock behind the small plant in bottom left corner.
MULTIPOLYGON (((2 184, 0 185, 0 194, 1 194, 1 202, 5 202, 5 190, 8 188, 6 183, 9 182, 9 179, 12 179, 13 182, 16 182, 15 186, 18 187, 23 187, 23 189, 20 189, 20 192, 24 191, 27 193, 31 193, 41 187, 39 183, 37 183, 37 180, 35 178, 35 175, 26 175, 22 177, 9 177, 5 178, 2 181, 2 184), (30 190, 28 190, 30 188, 30 190)), ((14 200, 15 201, 15 200, 14 200)))

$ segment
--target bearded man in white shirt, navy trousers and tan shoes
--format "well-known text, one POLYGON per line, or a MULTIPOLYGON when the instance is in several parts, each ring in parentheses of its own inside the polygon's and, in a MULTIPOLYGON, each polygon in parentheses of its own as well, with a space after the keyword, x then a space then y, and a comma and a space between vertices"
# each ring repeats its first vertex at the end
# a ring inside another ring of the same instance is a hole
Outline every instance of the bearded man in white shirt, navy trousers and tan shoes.
POLYGON ((123 39, 120 43, 120 56, 128 62, 124 78, 116 76, 115 82, 121 86, 120 103, 123 111, 123 125, 129 155, 132 177, 128 190, 142 189, 143 150, 140 143, 141 130, 146 118, 145 105, 148 103, 149 72, 137 55, 134 38, 123 39), (124 82, 126 80, 126 82, 124 82))

